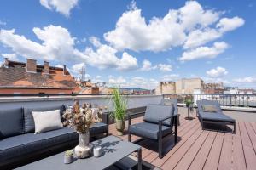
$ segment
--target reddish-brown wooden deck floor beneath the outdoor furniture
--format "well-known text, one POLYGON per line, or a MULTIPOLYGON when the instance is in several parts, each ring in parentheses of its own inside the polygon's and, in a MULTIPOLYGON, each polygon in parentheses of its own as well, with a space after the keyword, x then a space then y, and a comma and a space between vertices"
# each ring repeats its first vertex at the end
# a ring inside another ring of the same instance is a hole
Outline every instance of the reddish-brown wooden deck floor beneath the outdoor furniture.
MULTIPOLYGON (((142 117, 132 123, 142 122, 142 117)), ((195 117, 185 120, 180 117, 177 128, 178 143, 162 159, 158 157, 157 144, 149 140, 142 143, 143 161, 160 169, 256 169, 256 123, 236 122, 236 134, 218 133, 201 130, 201 124, 195 117)), ((114 125, 110 133, 116 135, 114 125)), ((127 140, 127 135, 121 137, 127 140)), ((136 136, 131 137, 136 140, 136 136)), ((173 138, 167 137, 164 146, 173 144, 173 138)), ((136 154, 135 154, 136 156, 136 154)))

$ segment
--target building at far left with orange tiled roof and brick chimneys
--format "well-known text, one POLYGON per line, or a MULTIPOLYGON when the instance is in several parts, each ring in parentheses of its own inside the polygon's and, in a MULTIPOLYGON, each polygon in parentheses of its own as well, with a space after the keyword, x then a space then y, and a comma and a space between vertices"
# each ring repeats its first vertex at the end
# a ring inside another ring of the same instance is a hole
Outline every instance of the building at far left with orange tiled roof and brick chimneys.
POLYGON ((26 63, 5 58, 0 66, 0 94, 72 94, 79 93, 80 88, 73 77, 63 68, 37 65, 34 59, 26 63))

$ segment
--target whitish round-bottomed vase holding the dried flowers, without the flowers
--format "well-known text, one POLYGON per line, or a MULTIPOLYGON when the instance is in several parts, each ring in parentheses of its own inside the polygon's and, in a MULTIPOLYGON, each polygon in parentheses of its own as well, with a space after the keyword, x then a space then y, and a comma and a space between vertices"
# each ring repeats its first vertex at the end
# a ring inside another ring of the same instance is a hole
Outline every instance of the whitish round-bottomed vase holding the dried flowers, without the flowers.
POLYGON ((90 144, 90 133, 79 133, 79 145, 74 149, 77 158, 83 159, 91 154, 92 144, 90 144))

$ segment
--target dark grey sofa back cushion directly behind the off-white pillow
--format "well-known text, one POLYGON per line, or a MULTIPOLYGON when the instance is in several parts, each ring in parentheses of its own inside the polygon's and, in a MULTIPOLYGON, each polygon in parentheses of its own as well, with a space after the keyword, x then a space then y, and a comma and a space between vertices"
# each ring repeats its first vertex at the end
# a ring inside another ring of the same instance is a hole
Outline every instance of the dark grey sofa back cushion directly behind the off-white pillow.
POLYGON ((25 133, 33 133, 35 131, 35 122, 33 120, 32 111, 53 111, 53 110, 60 110, 62 115, 65 108, 63 105, 24 108, 25 133))

